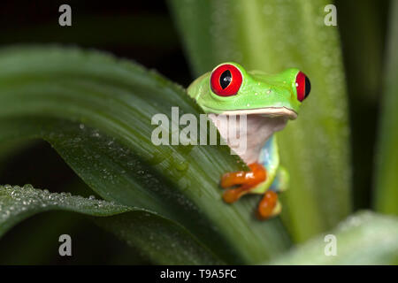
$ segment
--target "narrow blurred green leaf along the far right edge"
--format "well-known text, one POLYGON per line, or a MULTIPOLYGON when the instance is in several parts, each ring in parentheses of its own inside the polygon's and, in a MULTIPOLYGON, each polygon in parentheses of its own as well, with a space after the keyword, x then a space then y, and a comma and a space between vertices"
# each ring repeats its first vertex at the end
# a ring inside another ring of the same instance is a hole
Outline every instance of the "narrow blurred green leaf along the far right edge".
POLYGON ((378 166, 375 182, 375 202, 377 210, 398 214, 398 3, 392 2, 390 37, 387 54, 387 68, 384 81, 379 141, 378 166))

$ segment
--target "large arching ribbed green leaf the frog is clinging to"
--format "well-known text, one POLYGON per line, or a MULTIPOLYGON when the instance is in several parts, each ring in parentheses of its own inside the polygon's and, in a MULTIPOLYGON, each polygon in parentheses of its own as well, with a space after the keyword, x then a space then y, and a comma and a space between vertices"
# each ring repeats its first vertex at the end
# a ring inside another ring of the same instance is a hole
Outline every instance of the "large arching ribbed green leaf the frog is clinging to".
POLYGON ((290 245, 278 218, 256 220, 256 196, 223 203, 219 177, 243 168, 229 148, 151 142, 155 114, 175 125, 172 106, 201 113, 184 89, 94 51, 11 48, 0 65, 0 142, 45 139, 105 200, 179 223, 226 263, 261 262, 290 245))

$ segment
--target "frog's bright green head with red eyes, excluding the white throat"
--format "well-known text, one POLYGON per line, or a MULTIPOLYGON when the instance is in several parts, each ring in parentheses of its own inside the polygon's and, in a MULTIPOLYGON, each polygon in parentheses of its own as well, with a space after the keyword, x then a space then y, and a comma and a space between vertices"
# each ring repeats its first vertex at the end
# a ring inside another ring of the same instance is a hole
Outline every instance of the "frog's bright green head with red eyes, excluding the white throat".
POLYGON ((195 80, 188 94, 207 113, 296 119, 310 94, 310 80, 293 68, 270 75, 224 63, 195 80))

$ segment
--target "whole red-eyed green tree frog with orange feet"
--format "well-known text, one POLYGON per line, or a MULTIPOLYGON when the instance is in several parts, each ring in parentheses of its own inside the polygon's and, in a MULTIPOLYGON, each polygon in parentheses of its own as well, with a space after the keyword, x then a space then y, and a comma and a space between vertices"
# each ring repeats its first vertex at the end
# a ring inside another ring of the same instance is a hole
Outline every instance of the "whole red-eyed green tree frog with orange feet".
MULTIPOLYGON (((279 165, 276 135, 288 119, 296 119, 300 106, 310 94, 310 80, 297 69, 278 74, 247 72, 233 62, 216 66, 188 87, 188 95, 195 99, 209 118, 215 122, 220 135, 227 141, 227 123, 231 115, 246 115, 247 149, 239 153, 248 164, 249 172, 226 172, 220 186, 226 188, 226 203, 237 201, 242 195, 264 195, 258 205, 257 216, 272 218, 281 211, 277 193, 287 188, 288 173, 279 165), (216 123, 216 116, 225 115, 225 123, 216 123)), ((233 144, 228 142, 233 149, 233 144)))

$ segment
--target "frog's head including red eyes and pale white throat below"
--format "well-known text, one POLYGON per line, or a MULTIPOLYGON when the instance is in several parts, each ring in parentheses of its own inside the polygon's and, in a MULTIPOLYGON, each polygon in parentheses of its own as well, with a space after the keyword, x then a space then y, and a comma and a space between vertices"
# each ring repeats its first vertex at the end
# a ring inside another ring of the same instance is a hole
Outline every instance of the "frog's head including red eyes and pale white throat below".
POLYGON ((188 88, 188 95, 210 114, 226 140, 229 117, 246 116, 247 126, 240 130, 239 136, 247 137, 247 148, 241 151, 227 142, 248 164, 256 162, 273 133, 283 129, 288 119, 297 118, 302 101, 309 94, 310 80, 297 69, 270 75, 246 72, 236 63, 218 65, 188 88), (221 122, 218 120, 225 116, 221 122))

